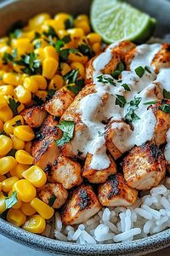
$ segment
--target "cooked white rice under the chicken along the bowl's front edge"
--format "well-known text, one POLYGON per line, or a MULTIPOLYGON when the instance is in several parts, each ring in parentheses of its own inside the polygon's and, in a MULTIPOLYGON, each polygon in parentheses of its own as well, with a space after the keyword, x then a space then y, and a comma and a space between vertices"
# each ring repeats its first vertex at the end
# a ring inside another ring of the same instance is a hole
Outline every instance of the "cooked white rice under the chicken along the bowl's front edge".
MULTIPOLYGON (((55 213, 54 236, 78 244, 133 241, 170 227, 170 177, 138 199, 132 207, 104 207, 84 224, 63 225, 55 213)), ((44 236, 48 236, 47 225, 44 236)))

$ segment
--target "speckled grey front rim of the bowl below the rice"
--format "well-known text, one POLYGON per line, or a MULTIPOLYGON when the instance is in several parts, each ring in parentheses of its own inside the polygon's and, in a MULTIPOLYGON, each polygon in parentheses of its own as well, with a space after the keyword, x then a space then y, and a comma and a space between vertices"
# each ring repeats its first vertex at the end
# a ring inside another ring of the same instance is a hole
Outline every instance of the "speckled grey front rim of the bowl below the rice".
POLYGON ((170 229, 152 236, 112 244, 78 245, 70 241, 59 241, 32 234, 0 218, 0 231, 3 236, 29 247, 48 253, 68 253, 73 255, 137 255, 151 253, 170 244, 170 229))

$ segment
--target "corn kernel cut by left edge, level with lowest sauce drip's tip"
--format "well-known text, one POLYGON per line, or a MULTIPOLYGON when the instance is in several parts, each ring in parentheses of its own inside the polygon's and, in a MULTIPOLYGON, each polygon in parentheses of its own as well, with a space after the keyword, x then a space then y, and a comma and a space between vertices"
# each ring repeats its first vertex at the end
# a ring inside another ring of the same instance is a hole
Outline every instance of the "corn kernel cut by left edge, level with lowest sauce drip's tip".
POLYGON ((4 156, 0 159, 0 174, 6 174, 10 172, 16 166, 17 161, 14 159, 13 156, 4 156))

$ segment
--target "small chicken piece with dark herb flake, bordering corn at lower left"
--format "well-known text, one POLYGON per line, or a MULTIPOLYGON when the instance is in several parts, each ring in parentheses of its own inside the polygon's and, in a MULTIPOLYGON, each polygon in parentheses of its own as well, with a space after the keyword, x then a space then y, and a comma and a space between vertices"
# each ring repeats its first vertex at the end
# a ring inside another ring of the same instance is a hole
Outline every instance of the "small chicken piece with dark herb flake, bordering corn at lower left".
POLYGON ((37 189, 37 195, 50 207, 59 209, 68 197, 68 192, 61 184, 46 183, 37 189))

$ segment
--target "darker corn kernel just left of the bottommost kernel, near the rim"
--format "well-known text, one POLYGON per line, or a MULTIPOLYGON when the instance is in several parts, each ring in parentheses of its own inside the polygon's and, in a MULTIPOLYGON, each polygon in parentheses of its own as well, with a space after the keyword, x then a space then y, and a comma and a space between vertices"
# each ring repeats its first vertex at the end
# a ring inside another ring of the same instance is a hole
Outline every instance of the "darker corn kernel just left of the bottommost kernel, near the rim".
POLYGON ((20 209, 10 208, 7 213, 7 220, 15 226, 20 227, 21 225, 25 224, 26 215, 21 212, 20 209))

